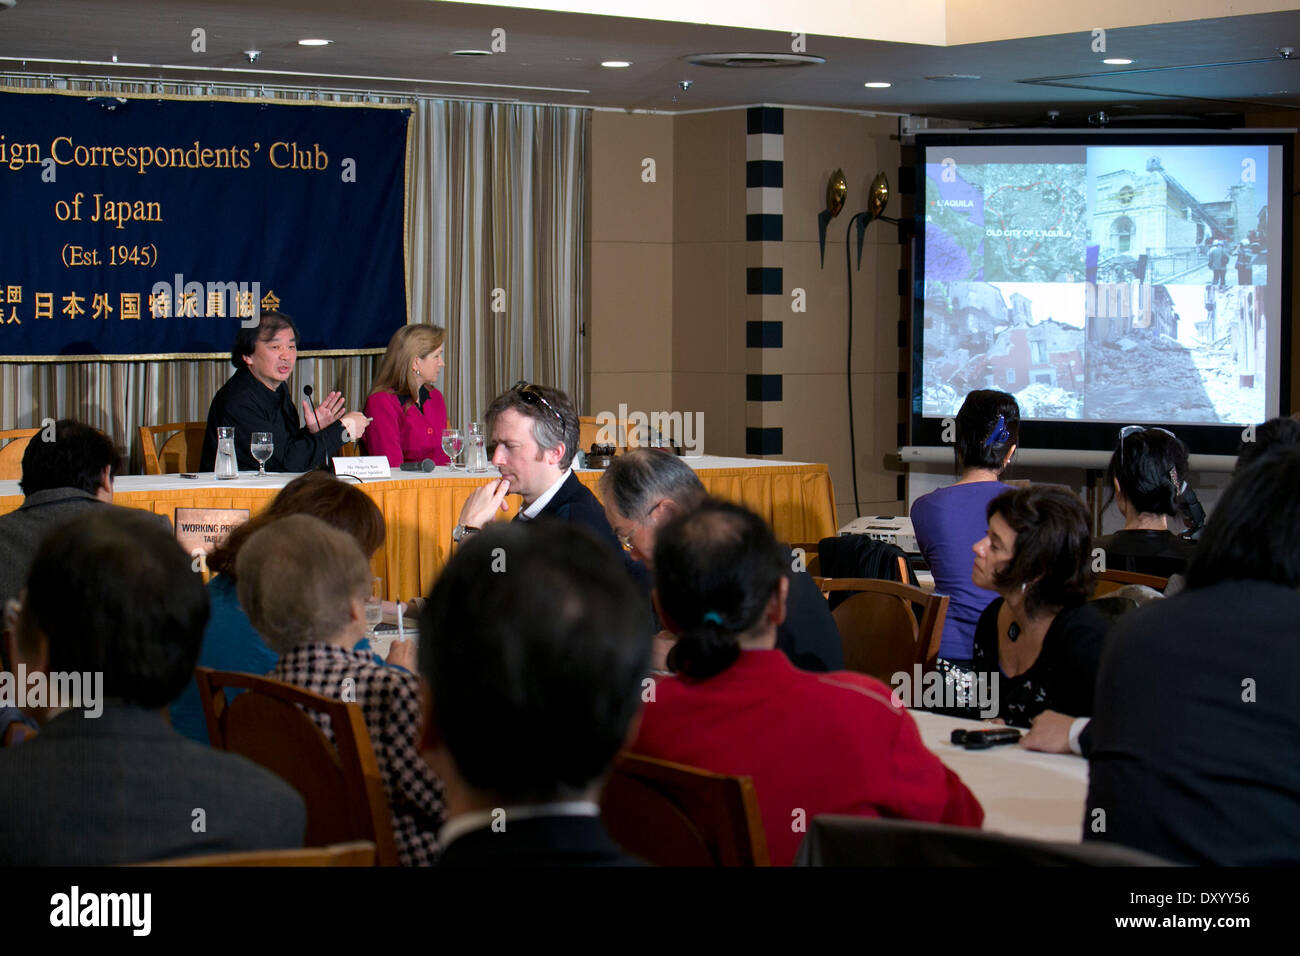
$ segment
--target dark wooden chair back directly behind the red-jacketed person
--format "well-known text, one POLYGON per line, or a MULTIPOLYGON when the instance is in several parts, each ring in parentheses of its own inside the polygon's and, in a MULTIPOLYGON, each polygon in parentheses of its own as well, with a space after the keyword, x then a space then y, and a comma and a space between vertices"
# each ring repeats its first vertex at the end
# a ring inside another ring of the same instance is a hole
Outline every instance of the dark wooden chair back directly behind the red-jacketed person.
POLYGON ((623 753, 604 786, 610 835, 656 866, 767 866, 754 782, 623 753))

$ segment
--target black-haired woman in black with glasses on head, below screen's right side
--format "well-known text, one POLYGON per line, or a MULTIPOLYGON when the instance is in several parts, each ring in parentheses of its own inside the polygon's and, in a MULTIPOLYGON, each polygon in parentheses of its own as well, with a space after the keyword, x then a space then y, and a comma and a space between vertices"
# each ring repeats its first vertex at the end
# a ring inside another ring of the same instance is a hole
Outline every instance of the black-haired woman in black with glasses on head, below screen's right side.
POLYGON ((1187 485, 1187 446, 1164 428, 1127 425, 1106 467, 1106 484, 1124 527, 1095 542, 1112 571, 1169 578, 1182 574, 1195 545, 1169 531, 1187 485))

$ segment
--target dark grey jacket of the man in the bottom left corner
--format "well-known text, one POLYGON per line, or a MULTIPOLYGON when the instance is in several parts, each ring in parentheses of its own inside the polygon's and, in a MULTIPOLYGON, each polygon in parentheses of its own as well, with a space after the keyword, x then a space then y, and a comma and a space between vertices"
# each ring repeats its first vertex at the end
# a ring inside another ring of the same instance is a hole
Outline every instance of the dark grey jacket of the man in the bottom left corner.
POLYGON ((186 740, 159 711, 107 702, 0 750, 0 821, 10 866, 99 866, 302 847, 307 812, 269 770, 186 740))

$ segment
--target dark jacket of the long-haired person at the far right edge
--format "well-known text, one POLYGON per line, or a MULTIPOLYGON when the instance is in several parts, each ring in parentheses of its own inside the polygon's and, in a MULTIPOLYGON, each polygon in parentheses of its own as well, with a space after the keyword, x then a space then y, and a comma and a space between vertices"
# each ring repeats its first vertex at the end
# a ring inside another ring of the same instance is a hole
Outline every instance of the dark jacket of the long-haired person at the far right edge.
POLYGON ((1097 675, 1084 840, 1193 866, 1300 864, 1297 620, 1300 592, 1254 580, 1119 620, 1097 675))

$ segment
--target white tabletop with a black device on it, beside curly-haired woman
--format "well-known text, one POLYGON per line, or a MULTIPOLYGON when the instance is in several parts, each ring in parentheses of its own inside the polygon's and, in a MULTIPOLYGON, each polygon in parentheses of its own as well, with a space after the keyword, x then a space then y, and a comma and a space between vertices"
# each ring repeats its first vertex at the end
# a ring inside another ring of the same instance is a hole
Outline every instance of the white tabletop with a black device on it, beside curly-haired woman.
POLYGON ((1088 761, 1075 754, 1039 753, 1018 745, 967 750, 953 730, 988 724, 913 710, 926 747, 962 780, 984 808, 984 829, 1057 843, 1083 840, 1088 761))

